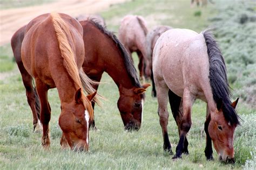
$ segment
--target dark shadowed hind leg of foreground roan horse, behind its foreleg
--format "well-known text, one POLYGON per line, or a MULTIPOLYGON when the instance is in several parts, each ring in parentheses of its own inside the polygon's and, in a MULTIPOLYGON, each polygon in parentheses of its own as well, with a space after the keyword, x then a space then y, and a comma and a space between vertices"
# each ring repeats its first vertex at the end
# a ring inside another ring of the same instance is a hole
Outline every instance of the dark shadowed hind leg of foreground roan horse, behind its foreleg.
MULTIPOLYGON (((173 115, 173 118, 178 126, 178 131, 179 131, 179 136, 180 136, 180 124, 181 124, 181 120, 183 118, 183 101, 182 101, 181 97, 174 94, 170 89, 168 91, 168 96, 169 96, 169 103, 170 103, 171 110, 172 110, 172 115, 173 115)), ((187 137, 185 137, 184 148, 183 148, 182 153, 189 154, 187 146, 188 146, 188 141, 187 141, 187 137)))

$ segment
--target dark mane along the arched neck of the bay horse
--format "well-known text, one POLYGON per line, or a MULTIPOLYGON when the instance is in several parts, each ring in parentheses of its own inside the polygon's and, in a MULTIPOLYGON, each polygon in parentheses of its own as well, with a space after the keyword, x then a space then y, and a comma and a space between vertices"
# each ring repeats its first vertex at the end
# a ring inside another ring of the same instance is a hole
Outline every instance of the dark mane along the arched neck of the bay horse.
POLYGON ((134 68, 133 62, 132 62, 129 54, 127 53, 125 47, 118 40, 116 35, 114 35, 113 32, 106 30, 105 27, 103 27, 102 25, 97 23, 96 20, 89 19, 88 21, 90 23, 92 23, 93 25, 95 25, 97 27, 97 29, 99 29, 102 33, 104 33, 106 36, 108 36, 114 42, 114 44, 116 44, 116 46, 118 47, 118 49, 122 53, 125 68, 126 68, 126 71, 127 71, 128 75, 130 76, 130 79, 132 81, 133 86, 142 88, 142 86, 140 85, 139 79, 137 77, 137 72, 136 72, 136 69, 134 68))

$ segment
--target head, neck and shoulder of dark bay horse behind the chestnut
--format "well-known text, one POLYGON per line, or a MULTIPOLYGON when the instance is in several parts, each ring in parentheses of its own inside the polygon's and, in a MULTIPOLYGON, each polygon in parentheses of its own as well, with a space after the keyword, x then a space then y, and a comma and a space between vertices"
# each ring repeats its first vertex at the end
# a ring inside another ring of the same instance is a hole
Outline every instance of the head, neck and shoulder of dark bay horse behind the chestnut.
MULTIPOLYGON (((98 82, 103 72, 112 77, 119 89, 117 106, 125 129, 138 130, 143 119, 144 93, 150 84, 140 85, 129 54, 112 32, 92 20, 80 24, 84 30, 84 72, 98 82)), ((98 85, 94 88, 97 90, 98 85)), ((95 126, 94 121, 91 126, 95 126)))

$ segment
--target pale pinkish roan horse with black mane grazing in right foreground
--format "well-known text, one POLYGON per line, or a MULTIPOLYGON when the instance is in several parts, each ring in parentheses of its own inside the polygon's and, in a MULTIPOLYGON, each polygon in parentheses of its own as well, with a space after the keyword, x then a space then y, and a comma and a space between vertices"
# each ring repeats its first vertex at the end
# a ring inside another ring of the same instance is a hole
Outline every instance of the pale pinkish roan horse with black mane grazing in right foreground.
POLYGON ((173 159, 188 153, 186 134, 191 127, 192 105, 199 98, 207 103, 205 121, 207 160, 212 160, 212 141, 219 160, 234 162, 234 130, 239 125, 231 103, 224 58, 210 30, 200 34, 186 29, 163 33, 153 51, 159 122, 164 150, 171 151, 167 132, 167 98, 179 129, 179 143, 173 159), (181 109, 180 109, 181 108, 181 109))

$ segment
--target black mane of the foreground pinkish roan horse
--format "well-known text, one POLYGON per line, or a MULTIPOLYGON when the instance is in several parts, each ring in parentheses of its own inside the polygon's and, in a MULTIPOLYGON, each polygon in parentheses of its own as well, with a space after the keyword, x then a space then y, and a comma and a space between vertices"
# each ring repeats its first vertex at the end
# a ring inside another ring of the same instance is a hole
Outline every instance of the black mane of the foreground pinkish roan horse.
POLYGON ((230 96, 232 96, 232 94, 227 80, 227 71, 223 55, 220 52, 212 31, 205 30, 202 33, 205 38, 209 57, 209 79, 214 102, 217 103, 219 100, 222 100, 223 114, 226 121, 230 122, 231 125, 239 125, 239 116, 231 106, 230 96))

